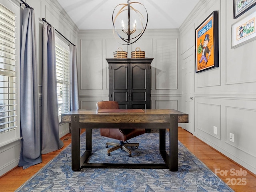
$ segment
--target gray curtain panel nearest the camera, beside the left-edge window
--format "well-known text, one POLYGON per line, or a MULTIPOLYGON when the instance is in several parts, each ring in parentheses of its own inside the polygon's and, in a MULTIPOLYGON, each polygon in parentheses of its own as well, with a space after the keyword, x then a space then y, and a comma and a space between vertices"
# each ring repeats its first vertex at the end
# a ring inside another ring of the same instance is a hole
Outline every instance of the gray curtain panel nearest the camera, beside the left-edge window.
POLYGON ((20 52, 20 126, 22 149, 19 166, 41 163, 38 64, 34 10, 24 8, 20 52))

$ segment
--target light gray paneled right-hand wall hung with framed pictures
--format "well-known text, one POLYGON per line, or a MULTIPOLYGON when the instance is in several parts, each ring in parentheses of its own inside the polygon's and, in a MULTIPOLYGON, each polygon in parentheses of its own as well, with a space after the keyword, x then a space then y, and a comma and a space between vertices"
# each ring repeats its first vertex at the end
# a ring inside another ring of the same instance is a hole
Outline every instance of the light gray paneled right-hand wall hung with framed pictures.
MULTIPOLYGON (((194 9, 180 28, 181 64, 186 67, 186 57, 192 55, 195 29, 214 10, 218 11, 219 64, 220 67, 197 73, 190 80, 182 78, 182 92, 186 82, 194 82, 190 96, 182 95, 182 110, 190 101, 194 114, 194 135, 214 147, 248 170, 256 173, 256 40, 231 48, 231 26, 256 11, 256 6, 233 19, 232 1, 203 1, 194 9), (202 12, 202 10, 204 10, 202 12), (190 40, 190 38, 193 39, 190 40), (189 97, 193 97, 190 100, 189 97), (216 132, 214 132, 214 127, 216 132), (230 141, 234 134, 234 142, 230 141)), ((193 69, 195 71, 195 64, 193 69)), ((182 72, 185 77, 185 72, 182 72)))

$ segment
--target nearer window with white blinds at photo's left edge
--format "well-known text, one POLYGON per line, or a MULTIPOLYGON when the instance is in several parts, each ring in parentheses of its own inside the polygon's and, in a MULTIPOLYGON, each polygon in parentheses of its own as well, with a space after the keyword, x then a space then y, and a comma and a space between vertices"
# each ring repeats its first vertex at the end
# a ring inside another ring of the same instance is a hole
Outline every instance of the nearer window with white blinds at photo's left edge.
MULTIPOLYGON (((6 2, 8 5, 8 2, 6 2)), ((13 6, 10 6, 13 8, 13 6)), ((15 9, 14 9, 15 10, 15 9)), ((0 144, 20 138, 15 13, 0 4, 0 144)))

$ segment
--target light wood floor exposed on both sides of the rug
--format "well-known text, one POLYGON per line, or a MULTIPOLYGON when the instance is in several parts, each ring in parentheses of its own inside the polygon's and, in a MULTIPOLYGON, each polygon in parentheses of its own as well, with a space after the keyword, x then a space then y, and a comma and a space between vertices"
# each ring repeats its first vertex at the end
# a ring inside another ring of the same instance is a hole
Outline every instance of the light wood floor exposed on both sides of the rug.
MULTIPOLYGON (((230 184, 230 187, 235 192, 256 192, 256 175, 250 173, 248 170, 234 163, 232 160, 226 158, 198 138, 186 130, 179 128, 178 139, 197 156, 206 166, 208 166, 213 172, 215 169, 219 170, 217 175, 226 183, 230 184), (234 171, 233 171, 234 170, 234 171), (241 172, 242 171, 242 172, 241 172), (221 173, 227 172, 227 174, 221 173), (236 172, 238 176, 231 176, 233 172, 236 172), (244 175, 242 175, 244 174, 244 175), (224 175, 224 176, 222 176, 224 175), (226 176, 225 176, 226 175, 226 176), (242 179, 243 178, 243 179, 242 179), (243 185, 242 185, 243 184, 243 185)), ((17 167, 14 170, 8 172, 0 178, 0 191, 1 192, 13 192, 26 182, 31 176, 33 176, 38 170, 45 166, 52 158, 60 153, 66 146, 71 143, 71 135, 68 134, 62 138, 64 147, 55 152, 42 155, 43 162, 23 170, 21 167, 17 167)))

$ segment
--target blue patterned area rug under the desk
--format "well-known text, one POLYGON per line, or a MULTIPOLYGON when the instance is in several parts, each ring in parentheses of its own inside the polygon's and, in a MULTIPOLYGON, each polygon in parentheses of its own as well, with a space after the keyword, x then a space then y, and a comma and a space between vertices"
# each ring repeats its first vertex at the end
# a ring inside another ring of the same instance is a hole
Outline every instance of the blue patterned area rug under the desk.
MULTIPOLYGON (((166 138, 169 132, 166 132, 166 138)), ((85 133, 81 149, 85 148, 85 133)), ((139 142, 132 157, 124 150, 107 155, 106 141, 99 130, 93 130, 93 154, 89 162, 164 163, 159 154, 157 130, 133 138, 139 142)), ((167 141, 168 143, 168 141, 167 141)), ((166 146, 168 146, 166 144, 166 146)), ((178 142, 178 171, 168 169, 71 169, 71 144, 24 183, 16 192, 230 192, 233 191, 182 143, 178 142)))

